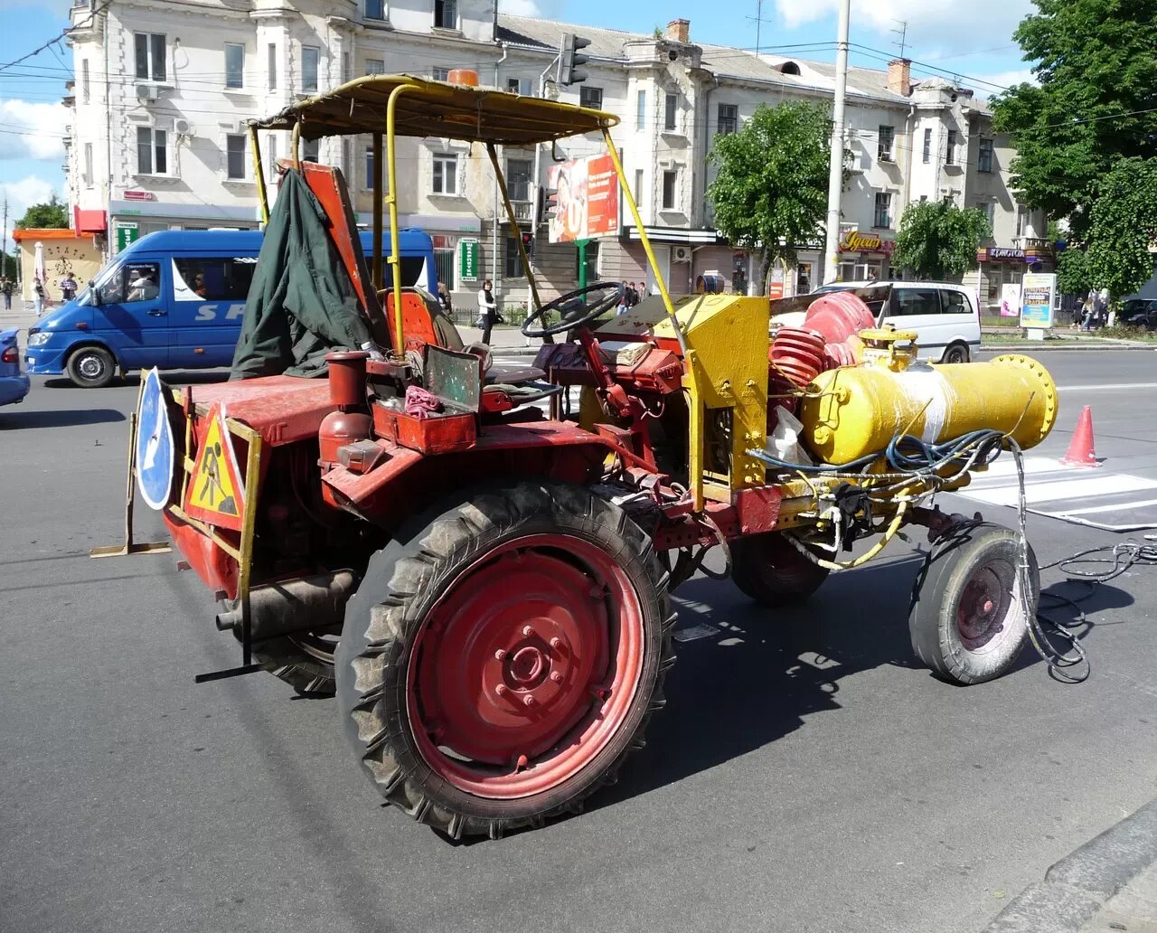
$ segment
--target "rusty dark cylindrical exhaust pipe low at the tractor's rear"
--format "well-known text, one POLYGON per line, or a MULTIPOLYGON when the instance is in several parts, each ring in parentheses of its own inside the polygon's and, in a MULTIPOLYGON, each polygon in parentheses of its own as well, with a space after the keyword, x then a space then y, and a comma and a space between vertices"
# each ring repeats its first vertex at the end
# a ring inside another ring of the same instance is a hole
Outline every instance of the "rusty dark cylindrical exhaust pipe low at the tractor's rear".
MULTIPOLYGON (((358 586, 349 570, 280 580, 255 587, 249 594, 250 636, 255 642, 294 632, 340 625, 346 602, 358 586)), ((241 607, 216 617, 220 631, 241 632, 241 607)))

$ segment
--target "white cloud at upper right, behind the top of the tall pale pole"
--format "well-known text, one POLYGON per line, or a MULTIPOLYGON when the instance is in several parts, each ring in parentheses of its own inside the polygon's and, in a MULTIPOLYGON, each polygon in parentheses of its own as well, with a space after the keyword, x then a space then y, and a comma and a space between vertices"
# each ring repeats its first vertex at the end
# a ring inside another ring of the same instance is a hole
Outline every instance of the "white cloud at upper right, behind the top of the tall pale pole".
MULTIPOLYGON (((789 29, 835 13, 838 0, 775 0, 775 9, 789 29)), ((867 27, 878 41, 865 43, 889 53, 896 51, 891 35, 907 23, 913 58, 931 61, 939 56, 1012 42, 1012 30, 1032 12, 1031 0, 852 0, 852 41, 867 27), (898 22, 899 21, 899 22, 898 22)), ((867 38, 867 37, 864 37, 867 38)), ((833 30, 832 39, 835 39, 833 30)), ((861 39, 863 41, 863 39, 861 39)), ((946 65, 967 71, 965 65, 946 65)))

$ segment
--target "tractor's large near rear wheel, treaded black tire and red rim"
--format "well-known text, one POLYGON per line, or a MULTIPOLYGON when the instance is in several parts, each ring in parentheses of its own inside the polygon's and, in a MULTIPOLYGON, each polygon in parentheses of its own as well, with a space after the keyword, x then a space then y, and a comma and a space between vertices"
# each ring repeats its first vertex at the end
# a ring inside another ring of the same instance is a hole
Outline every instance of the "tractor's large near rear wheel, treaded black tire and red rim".
POLYGON ((370 559, 336 655, 370 779, 454 838, 577 811, 663 705, 666 583, 580 486, 496 484, 417 520, 370 559))

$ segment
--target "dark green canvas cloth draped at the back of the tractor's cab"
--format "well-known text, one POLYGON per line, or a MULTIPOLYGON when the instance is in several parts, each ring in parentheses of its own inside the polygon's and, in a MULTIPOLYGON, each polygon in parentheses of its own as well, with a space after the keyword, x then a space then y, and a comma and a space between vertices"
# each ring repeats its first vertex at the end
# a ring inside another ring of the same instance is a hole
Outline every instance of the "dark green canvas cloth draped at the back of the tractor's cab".
POLYGON ((286 172, 245 299, 230 379, 325 375, 326 353, 371 340, 322 205, 300 172, 286 172))

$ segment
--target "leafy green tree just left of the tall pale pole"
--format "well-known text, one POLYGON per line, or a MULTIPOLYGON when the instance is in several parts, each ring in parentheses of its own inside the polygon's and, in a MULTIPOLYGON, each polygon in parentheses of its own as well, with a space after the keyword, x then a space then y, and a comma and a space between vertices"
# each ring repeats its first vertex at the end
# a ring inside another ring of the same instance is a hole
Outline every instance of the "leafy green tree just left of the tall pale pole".
POLYGON ((803 102, 760 104, 743 128, 716 137, 718 167, 707 189, 715 227, 739 249, 760 254, 760 282, 775 259, 795 263, 827 212, 831 117, 803 102))

